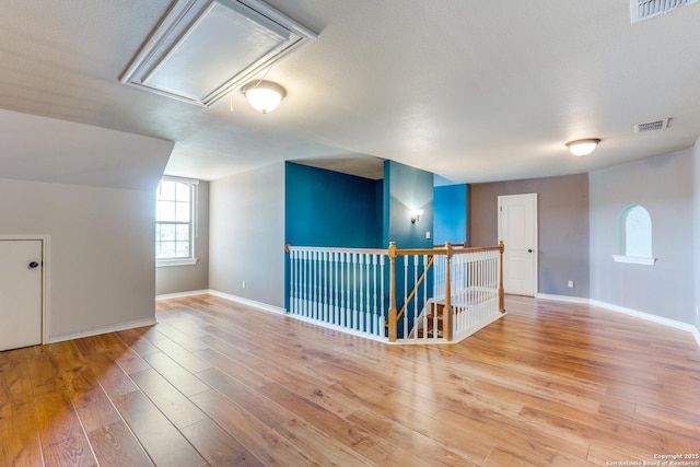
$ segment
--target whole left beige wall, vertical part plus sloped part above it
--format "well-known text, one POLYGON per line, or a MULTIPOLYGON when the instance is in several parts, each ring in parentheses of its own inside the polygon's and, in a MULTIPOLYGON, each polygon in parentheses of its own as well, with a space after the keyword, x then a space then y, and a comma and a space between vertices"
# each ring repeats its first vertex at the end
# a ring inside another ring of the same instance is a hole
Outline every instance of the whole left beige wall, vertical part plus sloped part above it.
POLYGON ((155 188, 174 143, 0 109, 0 235, 47 235, 49 340, 154 318, 155 188))

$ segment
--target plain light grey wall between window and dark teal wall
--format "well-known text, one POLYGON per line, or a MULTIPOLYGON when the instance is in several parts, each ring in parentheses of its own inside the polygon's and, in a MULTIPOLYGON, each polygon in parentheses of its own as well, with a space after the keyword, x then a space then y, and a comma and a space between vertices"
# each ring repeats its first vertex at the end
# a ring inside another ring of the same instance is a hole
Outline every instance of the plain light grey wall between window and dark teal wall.
POLYGON ((209 288, 283 307, 284 164, 211 182, 209 197, 209 288))

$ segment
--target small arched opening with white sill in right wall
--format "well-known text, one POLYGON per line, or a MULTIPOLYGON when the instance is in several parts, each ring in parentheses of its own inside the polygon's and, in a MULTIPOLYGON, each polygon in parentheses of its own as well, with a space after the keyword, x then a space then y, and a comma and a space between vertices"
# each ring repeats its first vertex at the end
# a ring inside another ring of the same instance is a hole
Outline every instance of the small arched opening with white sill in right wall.
POLYGON ((652 218, 640 205, 622 209, 617 219, 618 254, 612 255, 619 262, 653 265, 652 218))

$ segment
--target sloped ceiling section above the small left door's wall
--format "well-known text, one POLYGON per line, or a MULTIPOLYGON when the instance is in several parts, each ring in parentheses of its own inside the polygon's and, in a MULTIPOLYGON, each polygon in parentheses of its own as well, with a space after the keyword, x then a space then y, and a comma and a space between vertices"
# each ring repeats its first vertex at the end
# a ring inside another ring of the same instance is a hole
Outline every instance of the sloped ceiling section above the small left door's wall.
POLYGON ((0 109, 0 178, 155 191, 173 145, 0 109))

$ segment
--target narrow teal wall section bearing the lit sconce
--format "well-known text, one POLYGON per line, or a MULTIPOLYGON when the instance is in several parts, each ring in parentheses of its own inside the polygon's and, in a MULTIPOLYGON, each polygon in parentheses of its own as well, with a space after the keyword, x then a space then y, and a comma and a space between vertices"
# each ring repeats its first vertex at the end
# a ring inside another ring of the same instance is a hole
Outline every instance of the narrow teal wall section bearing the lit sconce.
POLYGON ((384 162, 383 247, 396 242, 398 248, 432 248, 433 174, 394 161, 384 162), (422 209, 411 223, 411 211, 422 209), (425 238, 425 232, 431 237, 425 238))

